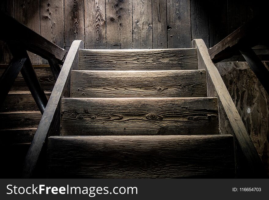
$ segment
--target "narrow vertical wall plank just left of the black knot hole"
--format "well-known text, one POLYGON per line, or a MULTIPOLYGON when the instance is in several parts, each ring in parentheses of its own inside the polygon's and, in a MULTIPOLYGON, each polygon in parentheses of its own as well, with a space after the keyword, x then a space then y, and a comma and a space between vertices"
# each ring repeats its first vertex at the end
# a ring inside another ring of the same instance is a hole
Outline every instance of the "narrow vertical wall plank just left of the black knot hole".
POLYGON ((167 48, 167 13, 166 2, 152 1, 153 49, 167 48))

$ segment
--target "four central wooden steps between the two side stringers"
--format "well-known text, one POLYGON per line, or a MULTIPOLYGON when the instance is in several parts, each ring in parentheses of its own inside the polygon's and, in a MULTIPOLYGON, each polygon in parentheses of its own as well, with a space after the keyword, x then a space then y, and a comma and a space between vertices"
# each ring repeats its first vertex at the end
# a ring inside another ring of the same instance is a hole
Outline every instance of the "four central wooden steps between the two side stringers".
POLYGON ((48 177, 234 177, 197 49, 79 50, 48 177))

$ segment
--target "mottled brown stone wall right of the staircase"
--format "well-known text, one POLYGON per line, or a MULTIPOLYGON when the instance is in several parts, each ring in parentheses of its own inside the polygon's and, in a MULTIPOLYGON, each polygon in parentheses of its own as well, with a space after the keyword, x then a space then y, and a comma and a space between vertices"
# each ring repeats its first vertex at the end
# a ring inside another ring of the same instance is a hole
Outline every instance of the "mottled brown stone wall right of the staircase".
POLYGON ((246 62, 216 67, 269 174, 269 95, 246 62))

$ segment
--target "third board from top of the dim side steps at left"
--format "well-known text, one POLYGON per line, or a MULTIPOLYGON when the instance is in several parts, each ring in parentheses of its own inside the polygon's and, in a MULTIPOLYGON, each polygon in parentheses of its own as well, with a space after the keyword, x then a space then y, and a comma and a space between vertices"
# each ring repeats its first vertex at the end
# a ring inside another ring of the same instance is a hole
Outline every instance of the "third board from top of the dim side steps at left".
POLYGON ((0 130, 37 128, 41 116, 39 111, 0 113, 0 130))

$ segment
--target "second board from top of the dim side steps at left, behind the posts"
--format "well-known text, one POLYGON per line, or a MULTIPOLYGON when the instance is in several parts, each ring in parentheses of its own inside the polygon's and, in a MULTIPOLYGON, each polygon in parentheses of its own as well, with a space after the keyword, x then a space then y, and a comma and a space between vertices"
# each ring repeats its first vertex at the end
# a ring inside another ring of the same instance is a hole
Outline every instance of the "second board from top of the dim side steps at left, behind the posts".
MULTIPOLYGON (((51 93, 46 93, 48 99, 50 94, 51 93)), ((16 111, 39 111, 35 100, 29 91, 10 92, 0 106, 0 112, 16 111)))

